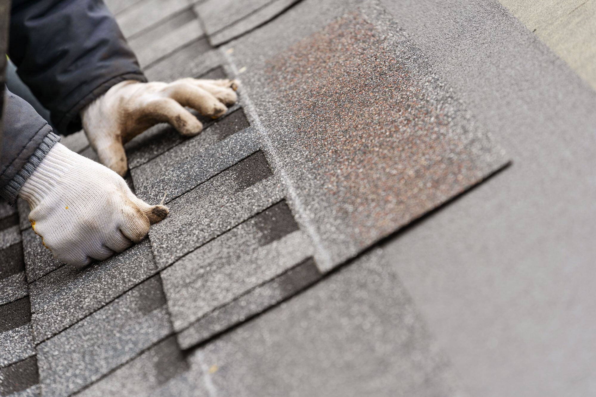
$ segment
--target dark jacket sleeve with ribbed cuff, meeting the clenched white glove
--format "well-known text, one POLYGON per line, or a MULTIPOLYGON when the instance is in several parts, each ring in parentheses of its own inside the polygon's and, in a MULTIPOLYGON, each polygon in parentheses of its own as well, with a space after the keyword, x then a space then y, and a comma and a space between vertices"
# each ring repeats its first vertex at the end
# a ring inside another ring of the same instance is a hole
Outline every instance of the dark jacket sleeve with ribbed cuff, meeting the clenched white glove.
POLYGON ((0 196, 17 200, 23 183, 60 137, 26 101, 5 89, 0 196))

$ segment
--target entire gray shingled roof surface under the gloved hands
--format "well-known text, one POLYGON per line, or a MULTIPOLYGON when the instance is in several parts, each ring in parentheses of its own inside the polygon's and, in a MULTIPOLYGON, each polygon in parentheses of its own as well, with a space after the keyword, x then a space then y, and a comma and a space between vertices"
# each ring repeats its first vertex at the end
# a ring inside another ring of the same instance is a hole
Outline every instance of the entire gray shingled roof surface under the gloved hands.
POLYGON ((594 390, 596 94, 501 5, 107 3, 150 79, 240 101, 126 145, 170 213, 114 258, 0 206, 1 395, 594 390))

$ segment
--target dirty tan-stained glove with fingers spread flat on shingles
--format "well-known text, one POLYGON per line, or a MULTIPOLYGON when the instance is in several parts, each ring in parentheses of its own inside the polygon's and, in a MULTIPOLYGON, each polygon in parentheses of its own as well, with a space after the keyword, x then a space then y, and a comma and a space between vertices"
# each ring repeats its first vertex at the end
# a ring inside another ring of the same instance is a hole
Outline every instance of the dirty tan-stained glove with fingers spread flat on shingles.
POLYGON ((83 108, 83 129, 101 163, 120 175, 127 169, 123 144, 157 123, 168 122, 192 137, 203 125, 184 107, 203 116, 222 116, 237 101, 235 80, 181 79, 172 83, 127 80, 83 108))

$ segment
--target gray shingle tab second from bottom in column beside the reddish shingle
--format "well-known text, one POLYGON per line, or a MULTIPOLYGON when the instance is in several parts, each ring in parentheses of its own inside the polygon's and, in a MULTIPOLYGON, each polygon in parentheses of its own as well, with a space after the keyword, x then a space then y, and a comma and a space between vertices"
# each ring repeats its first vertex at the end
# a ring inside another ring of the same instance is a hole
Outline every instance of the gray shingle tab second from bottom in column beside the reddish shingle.
POLYGON ((312 255, 285 202, 184 256, 162 272, 176 331, 312 255))

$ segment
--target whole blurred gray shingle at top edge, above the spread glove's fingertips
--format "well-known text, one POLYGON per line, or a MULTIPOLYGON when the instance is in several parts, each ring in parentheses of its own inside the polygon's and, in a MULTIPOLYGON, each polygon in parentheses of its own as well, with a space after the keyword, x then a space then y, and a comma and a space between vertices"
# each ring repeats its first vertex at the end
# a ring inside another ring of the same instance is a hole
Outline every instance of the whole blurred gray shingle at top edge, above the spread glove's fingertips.
POLYGON ((299 0, 207 0, 195 5, 202 18, 209 41, 221 45, 262 25, 299 0))

